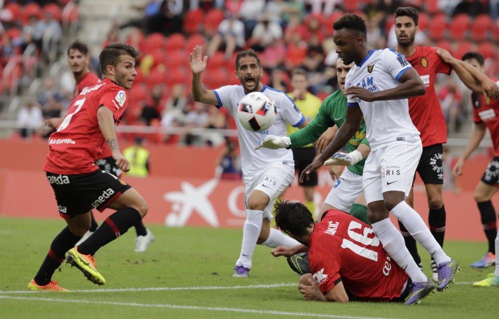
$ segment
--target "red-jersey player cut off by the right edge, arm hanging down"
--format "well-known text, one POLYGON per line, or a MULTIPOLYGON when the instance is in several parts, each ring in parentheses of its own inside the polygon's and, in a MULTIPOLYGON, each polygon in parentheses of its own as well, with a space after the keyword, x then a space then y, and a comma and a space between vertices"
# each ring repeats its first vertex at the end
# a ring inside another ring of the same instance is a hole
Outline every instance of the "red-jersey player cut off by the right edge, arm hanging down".
MULTIPOLYGON (((446 55, 450 58, 450 55, 446 55)), ((467 52, 463 58, 465 62, 471 64, 477 70, 485 74, 484 57, 478 52, 467 52)), ((458 63, 457 59, 452 59, 453 63, 458 63)), ((466 70, 464 75, 466 76, 466 70)), ((460 75, 460 73, 458 73, 460 75)), ((496 263, 496 239, 498 234, 496 210, 492 205, 491 198, 499 189, 499 100, 483 95, 483 91, 476 84, 476 80, 470 78, 463 78, 463 82, 473 91, 473 121, 475 122, 474 130, 470 141, 466 146, 463 154, 460 156, 453 172, 455 175, 461 175, 465 161, 475 151, 480 142, 483 140, 487 129, 491 133, 492 143, 494 146, 494 158, 487 166, 482 179, 478 182, 475 188, 475 200, 477 201, 478 209, 480 211, 482 225, 484 232, 489 243, 487 253, 479 261, 471 264, 475 268, 484 268, 493 266, 496 263)), ((495 80, 496 81, 496 80, 495 80)), ((499 274, 498 274, 499 275, 499 274)))

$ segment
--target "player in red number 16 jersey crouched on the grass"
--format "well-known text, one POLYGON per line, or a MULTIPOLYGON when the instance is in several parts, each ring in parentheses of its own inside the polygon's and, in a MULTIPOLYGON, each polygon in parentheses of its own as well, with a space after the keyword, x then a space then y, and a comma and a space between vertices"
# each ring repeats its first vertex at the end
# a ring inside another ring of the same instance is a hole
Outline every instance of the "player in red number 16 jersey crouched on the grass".
MULTIPOLYGON (((314 223, 303 204, 284 201, 275 204, 275 224, 308 246, 311 274, 303 275, 299 285, 305 299, 335 302, 405 299, 407 305, 421 300, 409 295, 409 276, 392 262, 372 227, 350 214, 328 210, 320 222, 314 223)), ((271 252, 281 256, 288 249, 280 246, 271 252)))

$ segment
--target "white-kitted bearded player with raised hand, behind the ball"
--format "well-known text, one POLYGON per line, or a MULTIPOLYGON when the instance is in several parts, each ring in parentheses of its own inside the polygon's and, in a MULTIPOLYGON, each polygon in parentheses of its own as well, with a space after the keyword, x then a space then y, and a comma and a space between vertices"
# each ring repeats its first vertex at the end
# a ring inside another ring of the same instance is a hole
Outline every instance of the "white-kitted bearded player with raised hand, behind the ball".
POLYGON ((198 102, 226 107, 236 120, 241 149, 243 178, 245 182, 246 221, 243 226, 243 243, 233 277, 246 278, 251 269, 251 256, 256 244, 275 248, 293 247, 299 243, 270 228, 274 199, 292 182, 294 176, 293 154, 282 149, 256 152, 253 146, 266 135, 286 135, 286 125, 305 127, 308 122, 283 92, 269 88, 260 82, 260 59, 253 50, 242 51, 236 57, 236 77, 242 85, 227 85, 207 90, 201 82, 207 56, 202 56, 196 46, 190 56, 192 71, 192 95, 198 102), (263 132, 251 132, 241 126, 237 118, 239 101, 250 92, 263 92, 275 101, 277 118, 263 132))

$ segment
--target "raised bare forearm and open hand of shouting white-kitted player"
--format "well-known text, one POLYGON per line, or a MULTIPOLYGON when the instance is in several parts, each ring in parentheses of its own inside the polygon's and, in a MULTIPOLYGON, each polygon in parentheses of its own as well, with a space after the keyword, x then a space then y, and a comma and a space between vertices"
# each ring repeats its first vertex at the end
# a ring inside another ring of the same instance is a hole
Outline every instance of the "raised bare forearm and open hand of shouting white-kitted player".
POLYGON ((206 69, 206 62, 208 60, 208 56, 205 55, 203 57, 201 52, 201 46, 196 45, 196 47, 192 50, 190 55, 190 63, 191 63, 191 72, 192 72, 192 96, 194 100, 197 102, 218 105, 217 96, 213 90, 207 90, 201 82, 201 74, 206 69))

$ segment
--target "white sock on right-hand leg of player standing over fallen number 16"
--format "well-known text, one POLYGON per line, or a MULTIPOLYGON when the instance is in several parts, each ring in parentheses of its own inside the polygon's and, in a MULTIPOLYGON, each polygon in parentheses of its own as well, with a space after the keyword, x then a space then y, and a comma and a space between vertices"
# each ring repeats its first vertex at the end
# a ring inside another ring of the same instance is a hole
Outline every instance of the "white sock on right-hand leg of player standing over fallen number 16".
POLYGON ((446 255, 435 237, 433 237, 423 218, 405 201, 398 203, 391 212, 404 224, 411 236, 433 257, 437 265, 451 261, 451 258, 446 255))

